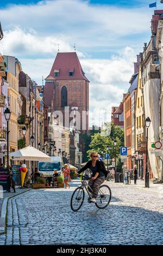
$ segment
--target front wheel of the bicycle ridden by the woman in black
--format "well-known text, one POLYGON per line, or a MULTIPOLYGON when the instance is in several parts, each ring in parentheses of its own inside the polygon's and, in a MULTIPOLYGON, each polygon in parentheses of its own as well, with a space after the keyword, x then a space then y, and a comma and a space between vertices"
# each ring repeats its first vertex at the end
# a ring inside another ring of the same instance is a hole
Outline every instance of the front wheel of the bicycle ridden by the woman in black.
POLYGON ((72 197, 71 197, 71 209, 74 212, 77 212, 80 207, 83 205, 84 202, 84 188, 78 187, 76 190, 74 190, 72 197))

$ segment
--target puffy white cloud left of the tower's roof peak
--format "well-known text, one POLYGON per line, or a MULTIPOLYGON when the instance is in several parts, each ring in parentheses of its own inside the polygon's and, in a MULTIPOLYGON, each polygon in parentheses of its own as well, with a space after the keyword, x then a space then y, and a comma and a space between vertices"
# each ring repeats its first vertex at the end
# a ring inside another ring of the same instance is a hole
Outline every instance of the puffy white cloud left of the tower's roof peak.
MULTIPOLYGON (((58 44, 62 51, 73 51, 74 49, 67 43, 64 35, 41 37, 34 29, 24 32, 20 27, 4 32, 1 51, 4 55, 37 56, 51 55, 57 53, 58 44)), ((82 52, 78 52, 79 57, 84 57, 82 52)))

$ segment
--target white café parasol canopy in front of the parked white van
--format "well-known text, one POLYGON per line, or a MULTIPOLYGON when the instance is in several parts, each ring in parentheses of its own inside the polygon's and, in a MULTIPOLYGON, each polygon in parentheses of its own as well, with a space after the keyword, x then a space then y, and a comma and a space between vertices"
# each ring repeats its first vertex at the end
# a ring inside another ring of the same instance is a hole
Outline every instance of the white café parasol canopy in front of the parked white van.
POLYGON ((47 154, 37 150, 37 148, 28 146, 24 147, 21 150, 12 152, 9 154, 9 157, 13 160, 29 160, 29 161, 49 161, 50 157, 47 154))

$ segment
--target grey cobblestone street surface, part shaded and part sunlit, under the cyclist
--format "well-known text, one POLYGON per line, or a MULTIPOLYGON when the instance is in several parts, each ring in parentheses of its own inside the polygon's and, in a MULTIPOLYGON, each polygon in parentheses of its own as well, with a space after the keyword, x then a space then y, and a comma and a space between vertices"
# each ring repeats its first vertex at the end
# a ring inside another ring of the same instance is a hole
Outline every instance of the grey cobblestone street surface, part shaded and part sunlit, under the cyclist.
POLYGON ((73 212, 70 189, 33 189, 8 201, 7 233, 0 245, 163 245, 163 198, 105 182, 112 199, 104 210, 88 204, 73 212))

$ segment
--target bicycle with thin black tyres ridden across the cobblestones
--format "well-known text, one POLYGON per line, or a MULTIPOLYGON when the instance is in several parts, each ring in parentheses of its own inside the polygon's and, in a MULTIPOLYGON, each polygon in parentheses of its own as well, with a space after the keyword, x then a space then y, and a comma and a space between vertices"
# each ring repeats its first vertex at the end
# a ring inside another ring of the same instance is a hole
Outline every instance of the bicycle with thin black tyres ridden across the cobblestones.
MULTIPOLYGON (((79 175, 79 174, 78 174, 78 176, 83 177, 83 180, 82 180, 82 186, 76 188, 71 197, 71 209, 74 212, 77 212, 83 205, 84 198, 85 198, 84 188, 85 188, 87 194, 89 195, 88 203, 92 203, 90 201, 90 199, 92 199, 91 192, 93 192, 93 190, 91 189, 89 184, 87 184, 87 182, 86 182, 86 181, 90 180, 90 177, 87 177, 85 175, 79 175)), ((107 186, 105 184, 101 185, 98 190, 98 195, 96 198, 95 205, 99 209, 104 209, 105 207, 107 207, 109 205, 110 200, 111 200, 111 189, 109 188, 109 186, 107 186)))

